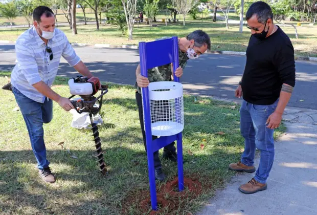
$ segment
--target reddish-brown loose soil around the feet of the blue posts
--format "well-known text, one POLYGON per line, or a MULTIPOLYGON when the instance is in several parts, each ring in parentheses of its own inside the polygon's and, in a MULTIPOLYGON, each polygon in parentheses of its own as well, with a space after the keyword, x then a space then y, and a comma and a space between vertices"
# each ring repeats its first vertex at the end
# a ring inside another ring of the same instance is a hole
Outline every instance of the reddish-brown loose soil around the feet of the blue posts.
MULTIPOLYGON (((168 181, 161 187, 156 185, 157 206, 159 210, 151 211, 150 215, 161 214, 162 212, 168 212, 173 214, 173 211, 180 205, 186 204, 186 199, 195 199, 203 191, 201 183, 197 179, 184 178, 184 190, 178 191, 178 178, 172 181, 168 181), (159 188, 158 188, 159 187, 159 188)), ((125 208, 123 213, 127 214, 129 207, 134 205, 140 213, 148 213, 151 210, 151 197, 149 190, 133 191, 124 200, 125 208)))

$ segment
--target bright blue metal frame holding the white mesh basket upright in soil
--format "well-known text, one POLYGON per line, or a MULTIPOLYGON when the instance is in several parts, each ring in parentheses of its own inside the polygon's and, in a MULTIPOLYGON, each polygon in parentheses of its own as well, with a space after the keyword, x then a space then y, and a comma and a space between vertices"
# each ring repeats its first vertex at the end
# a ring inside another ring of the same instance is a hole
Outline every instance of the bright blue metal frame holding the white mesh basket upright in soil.
MULTIPOLYGON (((147 77, 148 69, 173 63, 174 81, 179 82, 179 78, 175 76, 175 71, 179 66, 177 36, 151 42, 139 42, 139 52, 142 76, 147 77)), ((170 144, 171 142, 177 141, 178 190, 184 190, 182 142, 183 137, 182 132, 180 132, 172 136, 160 137, 152 140, 149 89, 148 87, 141 89, 143 100, 144 128, 146 134, 151 205, 153 210, 157 210, 153 153, 170 144)))

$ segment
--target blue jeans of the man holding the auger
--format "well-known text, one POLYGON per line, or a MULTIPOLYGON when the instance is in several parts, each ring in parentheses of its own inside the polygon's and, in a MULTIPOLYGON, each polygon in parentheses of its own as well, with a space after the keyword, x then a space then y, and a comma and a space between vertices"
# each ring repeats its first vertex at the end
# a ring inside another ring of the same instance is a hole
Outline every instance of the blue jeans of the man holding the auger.
POLYGON ((28 128, 37 168, 47 168, 50 162, 46 159, 43 123, 49 123, 53 118, 53 102, 45 98, 44 103, 39 103, 26 97, 16 88, 12 91, 28 128))

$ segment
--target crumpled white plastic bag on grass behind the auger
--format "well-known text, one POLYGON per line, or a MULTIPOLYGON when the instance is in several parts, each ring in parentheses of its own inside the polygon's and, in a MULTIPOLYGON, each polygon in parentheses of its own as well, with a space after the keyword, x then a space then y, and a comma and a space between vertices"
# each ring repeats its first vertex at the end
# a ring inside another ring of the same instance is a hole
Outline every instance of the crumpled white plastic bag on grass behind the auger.
MULTIPOLYGON (((73 120, 71 123, 72 127, 75 127, 78 129, 82 129, 82 128, 87 129, 91 127, 89 113, 79 114, 75 109, 70 110, 70 113, 73 115, 73 120)), ((99 114, 93 116, 93 121, 97 125, 101 125, 103 123, 103 120, 99 114)))

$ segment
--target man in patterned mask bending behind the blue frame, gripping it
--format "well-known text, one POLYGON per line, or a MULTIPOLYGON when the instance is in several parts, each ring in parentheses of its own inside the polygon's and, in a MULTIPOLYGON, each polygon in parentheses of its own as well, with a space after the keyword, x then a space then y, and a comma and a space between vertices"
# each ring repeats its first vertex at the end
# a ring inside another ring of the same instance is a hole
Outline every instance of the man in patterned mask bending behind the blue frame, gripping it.
MULTIPOLYGON (((160 39, 166 39, 169 37, 163 37, 160 39)), ((181 77, 183 75, 183 69, 187 64, 188 59, 196 59, 200 54, 205 53, 210 50, 210 38, 207 33, 196 30, 186 37, 182 37, 178 39, 178 59, 179 59, 179 67, 175 71, 175 75, 177 77, 181 77)), ((141 88, 146 88, 150 82, 155 81, 171 81, 173 80, 172 76, 172 65, 164 65, 161 67, 155 67, 148 70, 148 78, 141 75, 140 65, 135 72, 137 76, 137 81, 135 82, 135 88, 137 88, 137 92, 135 92, 135 99, 137 100, 137 104, 139 107, 139 118, 141 123, 141 130, 143 136, 144 147, 146 150, 146 138, 144 131, 144 123, 143 123, 143 106, 142 106, 142 94, 141 88)), ((168 112, 168 111, 167 111, 168 112)), ((156 136, 152 136, 153 140, 156 139, 156 136)), ((174 146, 174 142, 164 147, 163 158, 170 159, 173 162, 177 162, 177 154, 176 148, 174 146)), ((155 168, 155 178, 163 181, 165 179, 165 175, 162 170, 161 161, 159 158, 159 151, 156 151, 154 154, 154 168, 155 168)))

